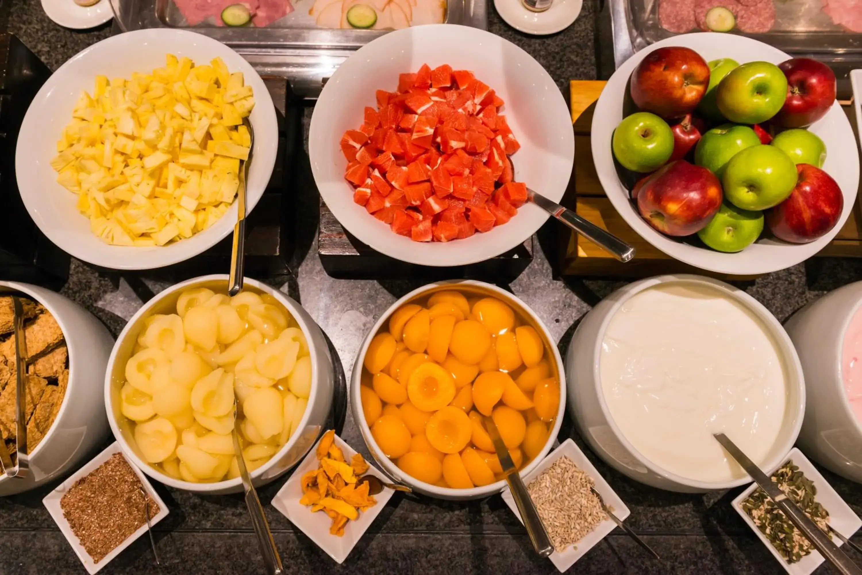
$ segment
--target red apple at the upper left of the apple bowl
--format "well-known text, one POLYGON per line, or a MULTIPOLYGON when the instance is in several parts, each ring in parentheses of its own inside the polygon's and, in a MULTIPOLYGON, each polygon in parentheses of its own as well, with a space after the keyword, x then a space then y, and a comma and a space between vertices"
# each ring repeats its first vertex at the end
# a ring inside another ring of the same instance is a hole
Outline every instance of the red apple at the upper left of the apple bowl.
POLYGON ((694 111, 709 86, 709 66, 691 48, 663 47, 648 53, 634 68, 634 104, 663 118, 694 111))

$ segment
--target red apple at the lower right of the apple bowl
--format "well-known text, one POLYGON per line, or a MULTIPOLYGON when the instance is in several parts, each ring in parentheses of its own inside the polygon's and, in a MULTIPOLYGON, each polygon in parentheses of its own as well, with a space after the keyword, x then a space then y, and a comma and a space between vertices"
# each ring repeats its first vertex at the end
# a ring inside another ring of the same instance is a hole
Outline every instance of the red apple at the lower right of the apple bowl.
POLYGON ((844 195, 828 173, 809 164, 798 164, 799 179, 784 202, 766 212, 766 225, 780 240, 803 244, 815 241, 835 227, 844 195))

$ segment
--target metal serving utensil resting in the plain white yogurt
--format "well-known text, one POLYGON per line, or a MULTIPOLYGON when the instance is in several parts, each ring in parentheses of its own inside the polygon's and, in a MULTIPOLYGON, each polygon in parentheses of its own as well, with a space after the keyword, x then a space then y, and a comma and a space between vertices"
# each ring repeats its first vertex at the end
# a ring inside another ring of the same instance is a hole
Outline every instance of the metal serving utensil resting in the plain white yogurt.
POLYGON ((766 495, 771 498, 776 507, 784 511, 784 515, 787 516, 794 525, 796 525, 796 528, 799 529, 809 541, 811 541, 811 544, 816 547, 817 551, 819 551, 820 554, 835 567, 835 569, 840 573, 844 573, 844 575, 862 575, 862 569, 859 569, 859 566, 853 563, 853 561, 846 556, 846 553, 841 551, 840 547, 835 545, 832 540, 830 540, 828 536, 823 533, 819 527, 817 527, 817 524, 811 521, 809 516, 805 515, 803 510, 799 509, 796 506, 796 503, 793 503, 793 500, 787 497, 784 494, 784 491, 781 491, 778 488, 778 484, 762 472, 751 459, 748 459, 748 456, 743 453, 733 441, 730 441, 727 435, 713 434, 713 437, 715 437, 715 441, 721 443, 721 447, 724 447, 727 452, 730 453, 731 457, 733 457, 736 462, 742 466, 742 469, 746 470, 746 473, 754 479, 754 482, 760 486, 760 489, 765 491, 766 495))

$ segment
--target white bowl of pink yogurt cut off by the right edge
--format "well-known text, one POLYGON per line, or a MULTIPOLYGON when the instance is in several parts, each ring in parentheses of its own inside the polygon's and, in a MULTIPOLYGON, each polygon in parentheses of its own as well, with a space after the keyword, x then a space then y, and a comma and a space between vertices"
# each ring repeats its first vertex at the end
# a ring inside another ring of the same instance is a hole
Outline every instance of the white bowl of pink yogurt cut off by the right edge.
POLYGON ((784 327, 808 388, 799 447, 821 466, 862 483, 862 282, 809 303, 784 327))

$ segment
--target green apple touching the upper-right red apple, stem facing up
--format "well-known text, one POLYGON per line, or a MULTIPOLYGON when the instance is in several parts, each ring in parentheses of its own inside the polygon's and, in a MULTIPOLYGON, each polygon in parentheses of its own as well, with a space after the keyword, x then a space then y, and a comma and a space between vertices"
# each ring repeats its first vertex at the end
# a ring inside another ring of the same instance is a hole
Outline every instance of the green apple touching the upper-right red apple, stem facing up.
POLYGON ((721 115, 738 124, 759 124, 778 114, 787 98, 787 77, 769 62, 737 66, 715 89, 721 115))

